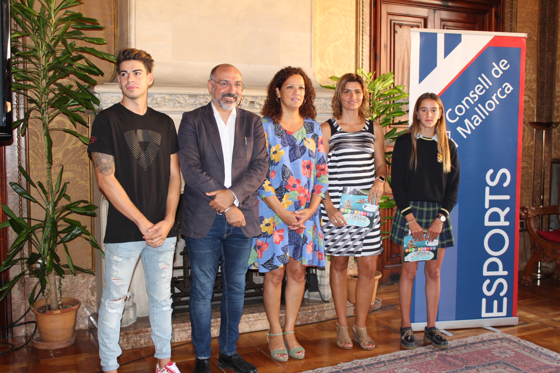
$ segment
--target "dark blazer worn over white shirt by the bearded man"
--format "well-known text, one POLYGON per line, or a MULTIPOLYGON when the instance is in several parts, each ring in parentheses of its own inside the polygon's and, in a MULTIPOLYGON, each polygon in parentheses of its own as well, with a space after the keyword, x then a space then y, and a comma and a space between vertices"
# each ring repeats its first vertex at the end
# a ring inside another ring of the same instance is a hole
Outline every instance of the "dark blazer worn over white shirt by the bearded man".
MULTIPOLYGON (((208 205, 214 199, 204 193, 226 189, 223 185, 223 152, 212 103, 183 113, 179 126, 179 163, 185 178, 181 233, 204 238, 216 218, 208 205)), ((268 171, 263 124, 250 111, 236 108, 231 186, 245 216, 241 229, 247 237, 260 234, 259 201, 256 190, 268 171)))

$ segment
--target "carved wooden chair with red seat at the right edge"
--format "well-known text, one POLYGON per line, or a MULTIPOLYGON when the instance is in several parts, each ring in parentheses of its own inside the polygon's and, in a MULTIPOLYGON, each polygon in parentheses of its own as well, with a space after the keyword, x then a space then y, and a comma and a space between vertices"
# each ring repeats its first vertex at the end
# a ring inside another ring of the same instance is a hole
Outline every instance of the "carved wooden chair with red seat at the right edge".
POLYGON ((521 285, 530 285, 533 282, 533 271, 538 262, 556 261, 556 271, 554 271, 552 278, 560 280, 560 243, 547 241, 536 233, 536 219, 540 220, 540 216, 543 215, 555 214, 560 219, 560 206, 521 207, 521 219, 525 220, 525 226, 531 239, 531 257, 519 281, 521 285))

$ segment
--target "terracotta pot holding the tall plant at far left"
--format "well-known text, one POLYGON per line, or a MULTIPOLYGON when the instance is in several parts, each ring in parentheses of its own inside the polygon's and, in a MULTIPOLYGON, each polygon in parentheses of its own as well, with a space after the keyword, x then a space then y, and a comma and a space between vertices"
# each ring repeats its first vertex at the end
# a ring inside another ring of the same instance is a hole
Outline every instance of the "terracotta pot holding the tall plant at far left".
MULTIPOLYGON (((44 306, 46 300, 39 300, 33 304, 33 313, 37 320, 40 342, 36 348, 62 348, 70 346, 76 340, 76 315, 80 308, 80 300, 75 298, 62 298, 63 304, 71 304, 72 307, 58 311, 46 311, 39 313, 36 310, 44 306), (66 345, 66 346, 64 346, 66 345)), ((35 342, 35 341, 34 341, 35 342)), ((38 341, 39 342, 39 341, 38 341)))

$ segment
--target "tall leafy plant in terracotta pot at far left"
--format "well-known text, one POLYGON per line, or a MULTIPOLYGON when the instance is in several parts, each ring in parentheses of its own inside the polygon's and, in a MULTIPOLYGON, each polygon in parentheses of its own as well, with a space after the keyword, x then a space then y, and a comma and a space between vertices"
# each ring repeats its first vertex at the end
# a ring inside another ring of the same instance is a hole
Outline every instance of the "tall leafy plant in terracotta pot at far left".
POLYGON ((29 192, 18 183, 10 186, 21 197, 40 207, 41 215, 17 216, 10 207, 2 205, 8 219, 0 228, 11 226, 17 234, 8 250, 8 256, 0 265, 0 273, 13 266, 23 264, 21 272, 0 288, 2 300, 22 276, 36 278, 31 289, 29 304, 35 313, 41 341, 39 348, 69 346, 75 339, 76 311, 80 301, 62 297, 62 281, 65 272, 76 275, 76 271, 91 273, 73 265, 68 252, 68 243, 74 239, 85 239, 92 247, 101 250, 85 225, 72 219, 73 214, 96 216, 97 206, 87 200, 72 201, 67 194, 68 182, 63 182, 64 167, 53 177, 52 131, 64 131, 76 136, 84 144, 89 139, 78 131, 56 128, 54 119, 66 116, 74 128, 87 126, 82 116, 85 110, 95 110, 99 100, 88 88, 96 84, 91 75, 103 75, 87 55, 115 61, 115 56, 89 46, 77 46, 76 41, 105 44, 99 37, 88 37, 82 30, 101 30, 104 27, 94 18, 69 10, 78 4, 76 0, 12 0, 10 14, 15 29, 11 34, 12 74, 15 82, 12 89, 25 98, 25 115, 13 122, 21 126, 25 134, 29 126, 37 126, 44 140, 46 180, 32 181, 20 167, 19 170, 29 185, 29 192), (29 254, 24 248, 31 247, 29 254), (27 256, 26 256, 27 255, 27 256), (66 261, 66 263, 64 263, 66 261), (58 277, 58 284, 57 284, 58 277), (39 295, 44 299, 37 301, 39 295), (42 343, 41 343, 42 342, 42 343), (46 344, 45 344, 46 343, 46 344))

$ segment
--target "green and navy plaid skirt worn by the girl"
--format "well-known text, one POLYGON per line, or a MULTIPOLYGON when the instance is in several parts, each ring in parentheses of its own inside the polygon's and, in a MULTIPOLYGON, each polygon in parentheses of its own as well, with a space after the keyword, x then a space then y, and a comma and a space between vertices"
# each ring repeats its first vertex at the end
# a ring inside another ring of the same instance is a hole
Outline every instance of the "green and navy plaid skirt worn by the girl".
MULTIPOLYGON (((410 209, 412 211, 407 210, 406 214, 412 213, 422 229, 428 229, 433 221, 436 220, 437 214, 440 213, 441 204, 436 204, 436 202, 410 201, 410 209)), ((391 225, 391 240, 398 245, 404 245, 405 232, 408 230, 408 225, 406 223, 407 219, 400 213, 400 210, 396 210, 395 217, 393 218, 393 225, 391 225)), ((438 247, 440 248, 455 245, 449 216, 444 222, 438 239, 438 247)))

